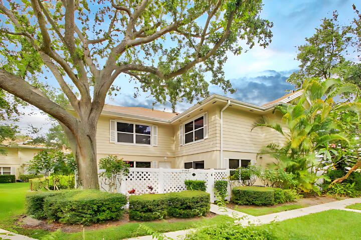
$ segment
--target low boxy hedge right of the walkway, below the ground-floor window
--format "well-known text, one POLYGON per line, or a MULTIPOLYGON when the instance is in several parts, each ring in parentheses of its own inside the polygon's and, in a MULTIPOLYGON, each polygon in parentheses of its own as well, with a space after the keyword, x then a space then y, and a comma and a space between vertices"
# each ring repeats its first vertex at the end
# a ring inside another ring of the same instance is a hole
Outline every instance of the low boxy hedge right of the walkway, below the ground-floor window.
POLYGON ((237 204, 273 205, 274 188, 238 186, 232 189, 232 201, 237 204))

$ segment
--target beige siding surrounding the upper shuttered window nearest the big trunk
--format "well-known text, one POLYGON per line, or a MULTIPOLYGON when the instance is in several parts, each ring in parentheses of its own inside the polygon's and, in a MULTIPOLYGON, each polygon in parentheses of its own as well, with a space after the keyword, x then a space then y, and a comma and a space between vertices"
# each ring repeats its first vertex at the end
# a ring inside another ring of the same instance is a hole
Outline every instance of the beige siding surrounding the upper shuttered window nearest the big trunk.
POLYGON ((109 140, 109 121, 112 120, 126 120, 131 119, 116 118, 109 116, 101 116, 97 126, 97 153, 98 159, 100 156, 115 154, 121 157, 136 155, 136 156, 152 156, 152 157, 172 157, 174 154, 174 133, 173 127, 170 124, 151 123, 147 121, 134 120, 137 123, 144 123, 158 126, 158 145, 157 146, 141 146, 141 145, 126 145, 122 143, 113 143, 109 140))

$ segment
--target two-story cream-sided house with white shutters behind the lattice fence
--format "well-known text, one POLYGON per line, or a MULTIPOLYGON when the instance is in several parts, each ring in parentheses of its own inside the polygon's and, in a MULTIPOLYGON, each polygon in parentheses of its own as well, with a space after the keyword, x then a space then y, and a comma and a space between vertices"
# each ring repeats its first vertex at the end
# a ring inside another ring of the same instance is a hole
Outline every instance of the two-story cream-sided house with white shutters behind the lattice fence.
POLYGON ((288 104, 302 94, 291 92, 258 106, 213 94, 182 113, 143 107, 105 105, 98 121, 97 158, 113 154, 134 167, 237 168, 272 159, 258 157, 269 142, 282 137, 267 127, 256 127, 262 115, 280 121, 275 105, 288 104))

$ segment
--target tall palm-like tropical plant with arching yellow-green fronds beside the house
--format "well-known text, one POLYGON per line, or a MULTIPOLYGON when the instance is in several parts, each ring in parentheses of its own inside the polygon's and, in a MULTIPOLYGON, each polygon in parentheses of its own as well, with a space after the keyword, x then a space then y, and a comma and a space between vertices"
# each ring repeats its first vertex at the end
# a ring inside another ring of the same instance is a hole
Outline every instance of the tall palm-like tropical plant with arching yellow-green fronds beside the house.
POLYGON ((271 122, 267 116, 258 118, 253 127, 264 126, 276 130, 285 139, 284 144, 269 143, 258 154, 269 154, 274 164, 294 174, 301 190, 317 190, 314 183, 320 177, 319 158, 330 159, 338 154, 332 144, 349 142, 337 116, 339 112, 361 112, 357 98, 354 102, 334 102, 344 92, 358 95, 354 84, 338 79, 311 78, 303 85, 303 95, 295 104, 281 104, 275 110, 283 114, 282 123, 271 122))

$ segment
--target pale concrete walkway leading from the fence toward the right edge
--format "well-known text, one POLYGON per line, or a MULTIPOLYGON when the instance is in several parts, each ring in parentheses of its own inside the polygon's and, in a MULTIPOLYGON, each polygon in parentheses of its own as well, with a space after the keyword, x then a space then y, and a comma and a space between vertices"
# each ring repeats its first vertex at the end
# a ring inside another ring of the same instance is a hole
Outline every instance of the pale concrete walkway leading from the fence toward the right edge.
MULTIPOLYGON (((262 216, 252 216, 243 212, 235 211, 230 208, 226 207, 219 207, 218 205, 211 204, 211 211, 220 214, 220 215, 228 215, 233 218, 236 218, 236 223, 241 224, 243 226, 247 225, 261 225, 261 224, 267 224, 273 221, 283 221, 290 218, 295 218, 299 216, 308 215, 311 213, 316 213, 320 211, 326 211, 331 209, 341 209, 341 210, 347 210, 347 211, 353 211, 353 212, 359 212, 361 213, 361 210, 356 209, 349 209, 345 208, 347 205, 351 205, 353 203, 360 203, 361 198, 347 198, 344 200, 339 201, 333 201, 328 202, 324 204, 314 205, 314 206, 308 206, 304 208, 294 209, 294 210, 288 210, 288 211, 281 211, 277 213, 262 215, 262 216)), ((186 234, 191 233, 194 231, 194 229, 187 229, 187 230, 180 230, 180 231, 173 231, 173 232, 166 232, 163 233, 166 237, 171 237, 173 239, 182 238, 186 234)), ((128 240, 152 240, 152 236, 139 236, 134 238, 129 238, 128 240)))

